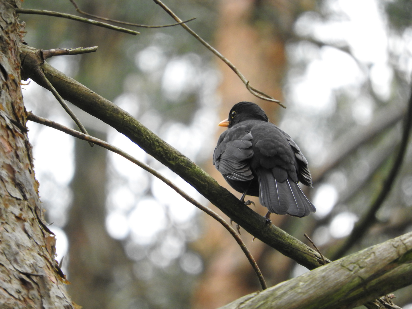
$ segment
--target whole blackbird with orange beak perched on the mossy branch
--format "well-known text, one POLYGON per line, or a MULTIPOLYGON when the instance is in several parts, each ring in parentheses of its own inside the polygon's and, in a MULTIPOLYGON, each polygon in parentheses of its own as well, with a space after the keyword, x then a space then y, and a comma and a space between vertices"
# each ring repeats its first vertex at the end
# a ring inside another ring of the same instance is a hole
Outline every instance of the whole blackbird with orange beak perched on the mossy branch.
MULTIPOLYGON (((236 191, 259 197, 270 213, 304 217, 315 212, 298 182, 309 187, 312 178, 308 162, 299 147, 252 102, 239 102, 219 126, 228 129, 220 135, 213 164, 236 191)), ((249 203, 250 204, 250 203, 249 203)))

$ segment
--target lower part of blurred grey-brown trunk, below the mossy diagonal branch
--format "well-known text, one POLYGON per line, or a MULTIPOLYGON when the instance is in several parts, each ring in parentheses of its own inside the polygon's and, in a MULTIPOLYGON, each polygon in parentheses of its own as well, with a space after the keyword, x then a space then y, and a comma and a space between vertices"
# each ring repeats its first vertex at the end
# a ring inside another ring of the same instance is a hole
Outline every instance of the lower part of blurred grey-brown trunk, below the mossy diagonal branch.
MULTIPOLYGON (((105 139, 102 133, 89 134, 105 139)), ((133 263, 105 229, 106 150, 76 140, 74 199, 65 231, 70 240, 70 295, 84 309, 129 308, 140 295, 133 263)))

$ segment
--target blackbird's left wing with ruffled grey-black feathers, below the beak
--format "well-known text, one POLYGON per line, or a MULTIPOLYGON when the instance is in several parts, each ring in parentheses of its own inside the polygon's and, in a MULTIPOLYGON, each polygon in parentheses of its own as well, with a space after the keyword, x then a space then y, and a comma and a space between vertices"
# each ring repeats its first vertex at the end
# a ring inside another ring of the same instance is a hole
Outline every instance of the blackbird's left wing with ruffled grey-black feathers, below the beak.
POLYGON ((225 178, 240 181, 253 179, 249 165, 253 157, 252 138, 252 134, 245 131, 229 129, 222 133, 213 153, 213 164, 225 178))

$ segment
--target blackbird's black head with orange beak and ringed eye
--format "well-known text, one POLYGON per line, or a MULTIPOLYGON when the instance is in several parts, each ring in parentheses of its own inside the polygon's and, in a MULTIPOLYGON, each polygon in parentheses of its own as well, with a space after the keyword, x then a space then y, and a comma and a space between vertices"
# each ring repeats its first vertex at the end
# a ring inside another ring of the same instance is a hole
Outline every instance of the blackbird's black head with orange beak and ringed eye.
POLYGON ((245 120, 268 121, 265 112, 259 105, 252 102, 243 101, 236 103, 230 110, 229 117, 221 121, 218 125, 231 128, 235 124, 245 120))

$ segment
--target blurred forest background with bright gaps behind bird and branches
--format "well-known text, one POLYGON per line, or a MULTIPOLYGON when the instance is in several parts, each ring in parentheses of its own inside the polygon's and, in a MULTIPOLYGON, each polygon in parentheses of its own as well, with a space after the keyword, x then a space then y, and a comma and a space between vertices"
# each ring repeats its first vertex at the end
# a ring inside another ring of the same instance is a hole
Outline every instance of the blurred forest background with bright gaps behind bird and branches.
MULTIPOLYGON (((79 0, 78 5, 117 20, 173 23, 151 1, 79 0)), ((142 34, 134 37, 49 16, 20 19, 26 21, 30 46, 98 45, 97 53, 54 57, 50 63, 136 116, 227 188, 211 163, 221 133, 216 124, 239 101, 262 106, 307 157, 315 180, 308 194, 318 209, 308 218, 272 215, 272 221, 302 241, 306 232, 333 256, 379 193, 396 155, 412 70, 410 3, 171 0, 166 5, 182 19, 196 17, 191 28, 254 87, 288 108, 252 96, 180 26, 137 29, 142 34), (388 125, 376 126, 384 122, 388 125)), ((66 0, 26 0, 23 7, 75 12, 66 0)), ((23 95, 28 110, 73 126, 51 94, 33 82, 23 95)), ((117 131, 70 106, 93 135, 206 203, 117 131)), ((259 289, 231 236, 168 187, 114 154, 29 125, 40 195, 76 303, 86 309, 216 308, 259 289)), ((411 159, 408 148, 377 223, 351 251, 412 230, 411 159)), ((265 214, 255 201, 255 210, 265 214)), ((252 242, 243 230, 242 237, 268 286, 305 271, 259 240, 252 242)), ((396 295, 398 305, 412 302, 410 288, 396 295)))

